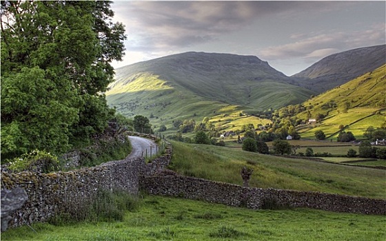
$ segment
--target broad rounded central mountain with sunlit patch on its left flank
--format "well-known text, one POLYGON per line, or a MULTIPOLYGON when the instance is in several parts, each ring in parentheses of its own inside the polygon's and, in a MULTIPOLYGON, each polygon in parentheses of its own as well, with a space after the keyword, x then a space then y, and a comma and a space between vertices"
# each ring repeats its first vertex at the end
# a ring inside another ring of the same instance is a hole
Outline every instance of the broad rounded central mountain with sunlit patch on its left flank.
POLYGON ((198 118, 223 109, 278 108, 301 103, 312 94, 256 56, 204 52, 174 54, 116 69, 116 81, 106 92, 109 105, 125 116, 163 120, 198 118))

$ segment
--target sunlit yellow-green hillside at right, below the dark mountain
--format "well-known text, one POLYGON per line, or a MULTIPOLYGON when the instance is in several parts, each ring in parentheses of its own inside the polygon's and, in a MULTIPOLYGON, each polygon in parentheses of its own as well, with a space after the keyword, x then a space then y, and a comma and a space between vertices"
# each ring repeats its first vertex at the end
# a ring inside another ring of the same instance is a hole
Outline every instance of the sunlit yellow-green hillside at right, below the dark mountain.
MULTIPOLYGON (((314 125, 300 125, 303 138, 314 138, 314 132, 322 130, 326 136, 336 139, 340 127, 362 138, 369 126, 380 127, 386 121, 386 65, 355 78, 344 85, 305 101, 305 111, 293 119, 307 122, 322 114, 324 118, 314 125)), ((279 112, 285 112, 281 109, 279 112)))

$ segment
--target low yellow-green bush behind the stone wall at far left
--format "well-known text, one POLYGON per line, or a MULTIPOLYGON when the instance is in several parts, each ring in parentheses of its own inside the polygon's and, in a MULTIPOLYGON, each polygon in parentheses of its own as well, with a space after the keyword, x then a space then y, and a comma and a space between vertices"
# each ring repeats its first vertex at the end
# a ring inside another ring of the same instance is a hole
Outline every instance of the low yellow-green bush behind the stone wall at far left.
POLYGON ((59 160, 57 156, 50 152, 33 150, 30 153, 21 155, 18 158, 13 158, 9 161, 10 170, 15 172, 20 171, 39 171, 49 173, 59 169, 59 160))

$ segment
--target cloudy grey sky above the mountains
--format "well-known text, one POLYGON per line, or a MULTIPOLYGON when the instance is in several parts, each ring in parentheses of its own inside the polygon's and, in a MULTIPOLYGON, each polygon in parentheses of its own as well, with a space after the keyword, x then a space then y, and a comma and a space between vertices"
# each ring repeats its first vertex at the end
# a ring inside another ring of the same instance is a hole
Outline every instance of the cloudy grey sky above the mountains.
POLYGON ((325 56, 386 43, 385 1, 114 1, 123 61, 183 52, 254 55, 287 76, 325 56))

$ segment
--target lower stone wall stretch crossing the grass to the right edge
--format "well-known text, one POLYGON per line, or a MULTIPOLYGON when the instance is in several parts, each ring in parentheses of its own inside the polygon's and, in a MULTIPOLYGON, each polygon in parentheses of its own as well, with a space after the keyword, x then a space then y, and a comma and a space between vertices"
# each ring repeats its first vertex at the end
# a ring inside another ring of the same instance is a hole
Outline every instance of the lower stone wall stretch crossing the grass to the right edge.
POLYGON ((151 194, 205 200, 234 207, 307 207, 347 213, 386 214, 386 200, 309 191, 241 187, 179 176, 172 171, 141 178, 140 181, 141 188, 151 194))

